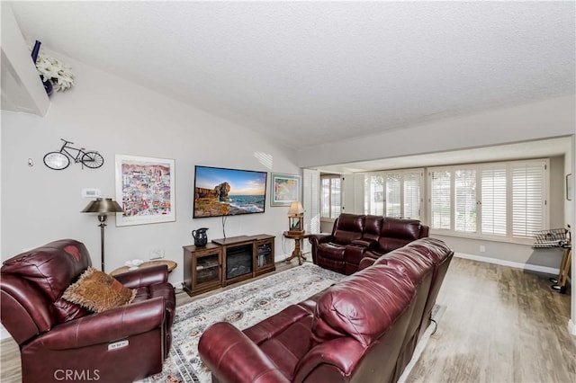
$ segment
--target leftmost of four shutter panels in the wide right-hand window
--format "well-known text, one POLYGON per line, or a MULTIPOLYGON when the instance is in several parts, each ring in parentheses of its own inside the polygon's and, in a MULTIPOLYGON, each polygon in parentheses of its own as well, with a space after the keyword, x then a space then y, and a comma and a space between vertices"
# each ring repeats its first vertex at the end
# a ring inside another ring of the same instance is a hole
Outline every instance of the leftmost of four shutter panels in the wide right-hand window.
POLYGON ((451 191, 450 171, 430 172, 430 227, 450 230, 451 191))

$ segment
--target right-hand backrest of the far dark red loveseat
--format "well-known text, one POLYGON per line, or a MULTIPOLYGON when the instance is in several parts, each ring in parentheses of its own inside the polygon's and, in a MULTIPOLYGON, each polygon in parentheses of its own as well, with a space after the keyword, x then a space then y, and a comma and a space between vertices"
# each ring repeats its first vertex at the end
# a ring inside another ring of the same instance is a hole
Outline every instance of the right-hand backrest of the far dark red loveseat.
POLYGON ((418 219, 383 218, 382 230, 378 239, 378 251, 386 254, 408 245, 422 236, 422 228, 423 225, 418 219))

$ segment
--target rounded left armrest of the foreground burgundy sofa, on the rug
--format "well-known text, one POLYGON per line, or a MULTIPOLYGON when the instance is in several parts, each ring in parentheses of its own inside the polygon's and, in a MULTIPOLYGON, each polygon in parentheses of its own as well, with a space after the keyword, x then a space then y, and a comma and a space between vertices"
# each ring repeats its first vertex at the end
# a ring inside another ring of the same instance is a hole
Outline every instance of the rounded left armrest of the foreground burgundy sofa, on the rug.
POLYGON ((288 382, 244 333, 227 322, 208 327, 198 343, 202 361, 220 382, 288 382))

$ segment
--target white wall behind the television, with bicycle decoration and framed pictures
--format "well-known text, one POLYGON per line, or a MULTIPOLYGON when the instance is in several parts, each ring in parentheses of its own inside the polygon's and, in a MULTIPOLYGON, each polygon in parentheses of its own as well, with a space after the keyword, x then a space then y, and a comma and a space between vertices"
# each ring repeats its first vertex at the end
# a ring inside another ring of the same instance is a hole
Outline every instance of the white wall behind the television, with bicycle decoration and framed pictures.
MULTIPOLYGON (((151 249, 162 248, 166 259, 179 263, 170 275, 170 281, 178 283, 183 281, 182 246, 193 244, 191 231, 209 227, 209 239, 222 236, 220 218, 192 218, 194 165, 300 174, 290 152, 245 127, 71 58, 54 56, 73 67, 76 85, 65 93, 52 94, 43 118, 2 111, 2 260, 70 237, 84 242, 93 263, 99 265, 98 222, 94 215, 80 213, 89 202, 82 198, 82 189, 98 188, 103 197, 114 197, 116 154, 173 158, 176 221, 115 227, 115 219, 110 217, 105 231, 106 271, 130 259, 148 259, 151 249), (104 165, 94 170, 81 165, 50 170, 42 158, 58 150, 60 138, 100 151, 104 165), (257 152, 272 156, 272 168, 258 161, 257 152), (28 165, 29 158, 33 166, 28 165)), ((229 217, 226 235, 275 235, 279 261, 284 259, 282 232, 287 208, 270 207, 270 178, 266 213, 229 217)))

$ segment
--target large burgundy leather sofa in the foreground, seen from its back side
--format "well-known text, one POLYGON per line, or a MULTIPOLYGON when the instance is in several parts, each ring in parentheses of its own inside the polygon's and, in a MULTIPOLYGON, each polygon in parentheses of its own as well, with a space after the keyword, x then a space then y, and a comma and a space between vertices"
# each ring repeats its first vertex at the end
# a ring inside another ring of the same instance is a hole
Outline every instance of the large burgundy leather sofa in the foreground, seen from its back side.
POLYGON ((214 382, 394 382, 430 321, 453 252, 422 238, 244 331, 220 322, 198 345, 214 382))

